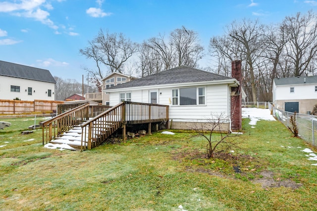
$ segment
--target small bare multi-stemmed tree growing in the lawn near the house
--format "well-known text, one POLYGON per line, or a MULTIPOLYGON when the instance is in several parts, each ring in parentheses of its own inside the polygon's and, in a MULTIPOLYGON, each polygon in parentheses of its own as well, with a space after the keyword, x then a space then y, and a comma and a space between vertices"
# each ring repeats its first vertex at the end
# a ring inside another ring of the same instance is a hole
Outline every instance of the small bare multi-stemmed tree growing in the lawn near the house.
POLYGON ((240 133, 224 131, 222 126, 226 122, 228 122, 228 118, 220 114, 212 115, 207 123, 195 124, 194 130, 208 142, 206 145, 208 158, 213 158, 215 153, 229 151, 232 148, 240 148, 238 146, 240 133), (218 133, 219 136, 215 136, 214 133, 218 133))

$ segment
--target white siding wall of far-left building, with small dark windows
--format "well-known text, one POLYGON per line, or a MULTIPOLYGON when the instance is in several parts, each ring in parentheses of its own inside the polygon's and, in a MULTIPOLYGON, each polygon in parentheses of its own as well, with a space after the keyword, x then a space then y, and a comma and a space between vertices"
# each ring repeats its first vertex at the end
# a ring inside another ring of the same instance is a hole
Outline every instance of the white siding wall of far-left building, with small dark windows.
POLYGON ((55 100, 55 84, 29 79, 0 76, 0 99, 13 100, 55 100), (11 85, 20 86, 20 92, 11 91, 11 85), (28 95, 28 87, 32 87, 32 95, 28 95), (48 90, 52 90, 52 96, 48 96, 48 90), (26 90, 26 91, 25 91, 26 90))

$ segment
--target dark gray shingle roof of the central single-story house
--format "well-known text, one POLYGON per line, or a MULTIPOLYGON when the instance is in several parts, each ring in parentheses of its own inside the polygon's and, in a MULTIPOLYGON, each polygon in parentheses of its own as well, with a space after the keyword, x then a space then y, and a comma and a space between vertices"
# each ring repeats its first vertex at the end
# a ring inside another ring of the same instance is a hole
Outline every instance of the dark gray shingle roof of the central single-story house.
POLYGON ((107 89, 150 86, 150 85, 159 85, 159 84, 205 82, 205 81, 216 81, 216 80, 226 80, 226 79, 233 79, 233 78, 220 76, 214 73, 198 70, 195 68, 180 66, 180 67, 176 67, 170 70, 165 70, 163 72, 150 75, 144 78, 136 79, 131 82, 112 86, 107 89))

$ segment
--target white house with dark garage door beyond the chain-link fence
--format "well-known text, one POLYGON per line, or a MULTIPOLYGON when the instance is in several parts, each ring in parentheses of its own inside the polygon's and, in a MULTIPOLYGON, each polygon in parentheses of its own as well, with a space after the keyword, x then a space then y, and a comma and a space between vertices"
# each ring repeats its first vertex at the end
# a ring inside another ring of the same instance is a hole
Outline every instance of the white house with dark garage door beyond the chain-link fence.
POLYGON ((275 78, 272 92, 277 109, 310 114, 317 104, 317 76, 275 78))

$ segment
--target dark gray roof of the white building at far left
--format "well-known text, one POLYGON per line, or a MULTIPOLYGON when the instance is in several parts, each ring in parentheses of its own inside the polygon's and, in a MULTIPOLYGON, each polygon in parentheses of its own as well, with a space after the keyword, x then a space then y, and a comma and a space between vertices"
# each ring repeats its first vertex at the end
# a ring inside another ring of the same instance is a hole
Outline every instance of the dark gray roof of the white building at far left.
POLYGON ((0 75, 56 83, 48 70, 0 61, 0 75))

